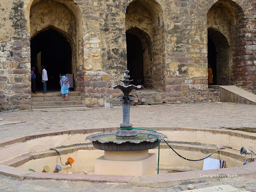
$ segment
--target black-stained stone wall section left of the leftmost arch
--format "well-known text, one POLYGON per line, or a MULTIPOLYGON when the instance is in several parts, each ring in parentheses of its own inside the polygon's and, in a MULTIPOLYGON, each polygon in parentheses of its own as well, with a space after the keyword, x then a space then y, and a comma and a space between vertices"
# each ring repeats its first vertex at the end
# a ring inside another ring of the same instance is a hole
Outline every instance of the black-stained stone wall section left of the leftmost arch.
MULTIPOLYGON (((31 108, 30 41, 24 3, 0 2, 0 104, 8 108, 31 108)), ((1 107, 1 108, 2 108, 1 107)), ((2 109, 1 109, 2 110, 2 109)))

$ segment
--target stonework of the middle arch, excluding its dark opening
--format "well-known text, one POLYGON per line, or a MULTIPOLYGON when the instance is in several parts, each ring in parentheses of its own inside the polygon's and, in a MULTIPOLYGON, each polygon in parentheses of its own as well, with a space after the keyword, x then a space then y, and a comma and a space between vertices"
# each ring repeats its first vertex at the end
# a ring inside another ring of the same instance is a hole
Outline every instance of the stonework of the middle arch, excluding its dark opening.
POLYGON ((133 0, 126 8, 125 28, 137 36, 144 47, 144 85, 163 91, 163 31, 162 7, 154 0, 133 0))

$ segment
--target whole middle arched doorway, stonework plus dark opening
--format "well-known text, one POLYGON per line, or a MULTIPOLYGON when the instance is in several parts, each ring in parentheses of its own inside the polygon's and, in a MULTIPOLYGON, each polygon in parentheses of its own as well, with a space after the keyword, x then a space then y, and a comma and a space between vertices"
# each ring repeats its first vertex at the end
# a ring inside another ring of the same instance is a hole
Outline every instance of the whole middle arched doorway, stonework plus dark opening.
POLYGON ((127 64, 133 84, 163 91, 163 17, 155 0, 133 0, 126 8, 127 64), (133 54, 133 55, 132 55, 133 54))

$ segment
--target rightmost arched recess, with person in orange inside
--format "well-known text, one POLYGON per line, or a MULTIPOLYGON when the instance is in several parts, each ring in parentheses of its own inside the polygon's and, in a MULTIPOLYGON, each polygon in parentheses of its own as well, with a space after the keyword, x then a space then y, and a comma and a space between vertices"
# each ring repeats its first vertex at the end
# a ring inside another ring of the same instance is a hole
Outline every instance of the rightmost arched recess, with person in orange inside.
POLYGON ((232 0, 218 0, 207 12, 208 64, 213 64, 214 84, 234 84, 236 35, 243 20, 243 10, 232 0), (214 49, 216 50, 214 52, 214 49))

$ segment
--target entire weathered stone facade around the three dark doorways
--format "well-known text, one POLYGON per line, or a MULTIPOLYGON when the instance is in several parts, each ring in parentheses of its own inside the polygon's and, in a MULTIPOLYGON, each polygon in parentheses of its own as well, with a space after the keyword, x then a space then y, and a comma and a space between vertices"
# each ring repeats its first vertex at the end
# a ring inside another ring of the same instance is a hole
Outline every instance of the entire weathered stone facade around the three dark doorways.
POLYGON ((160 102, 209 100, 209 29, 221 33, 229 47, 228 56, 218 60, 227 64, 223 68, 227 72, 220 75, 228 78, 222 82, 256 93, 256 3, 252 0, 6 0, 0 2, 0 10, 4 108, 7 98, 14 98, 17 108, 30 108, 30 38, 48 26, 70 34, 75 89, 84 93, 86 106, 103 106, 111 94, 119 104, 120 92, 108 86, 122 79, 127 68, 126 30, 136 28, 139 32, 134 34, 144 47, 147 87, 163 92, 160 102), (64 17, 65 12, 66 20, 52 18, 51 8, 33 11, 46 2, 52 8, 61 4, 54 15, 64 17))

